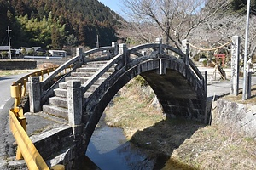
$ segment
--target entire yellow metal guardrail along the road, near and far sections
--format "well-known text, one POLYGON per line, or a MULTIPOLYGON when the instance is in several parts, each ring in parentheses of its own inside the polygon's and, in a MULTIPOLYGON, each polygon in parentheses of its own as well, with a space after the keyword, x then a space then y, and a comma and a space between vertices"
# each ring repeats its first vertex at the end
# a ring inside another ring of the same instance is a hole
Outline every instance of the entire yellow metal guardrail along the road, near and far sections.
MULTIPOLYGON (((26 82, 28 77, 41 77, 41 81, 44 81, 44 75, 52 71, 55 71, 57 67, 52 67, 40 71, 32 72, 25 77, 21 77, 18 81, 13 82, 10 87, 11 97, 15 98, 14 108, 9 110, 9 125, 10 130, 15 137, 15 141, 18 144, 16 159, 25 159, 28 169, 38 170, 64 170, 63 165, 56 165, 54 167, 48 167, 38 150, 32 143, 32 140, 26 134, 26 117, 23 114, 23 109, 19 108, 21 97, 26 93, 26 82)), ((70 69, 72 69, 70 67, 70 69)), ((66 69, 64 71, 66 74, 66 69)))

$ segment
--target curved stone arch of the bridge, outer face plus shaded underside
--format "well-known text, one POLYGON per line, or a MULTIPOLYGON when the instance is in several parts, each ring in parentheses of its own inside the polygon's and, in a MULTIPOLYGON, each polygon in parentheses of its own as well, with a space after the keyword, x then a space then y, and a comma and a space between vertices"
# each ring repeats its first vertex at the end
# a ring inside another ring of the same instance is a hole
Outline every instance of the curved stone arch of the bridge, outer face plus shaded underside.
POLYGON ((170 56, 158 56, 154 59, 144 56, 131 60, 125 67, 113 73, 88 99, 90 103, 86 104, 84 114, 87 116, 84 130, 86 142, 89 143, 97 122, 114 95, 137 75, 144 77, 153 88, 167 117, 204 120, 206 95, 201 82, 189 66, 170 56))

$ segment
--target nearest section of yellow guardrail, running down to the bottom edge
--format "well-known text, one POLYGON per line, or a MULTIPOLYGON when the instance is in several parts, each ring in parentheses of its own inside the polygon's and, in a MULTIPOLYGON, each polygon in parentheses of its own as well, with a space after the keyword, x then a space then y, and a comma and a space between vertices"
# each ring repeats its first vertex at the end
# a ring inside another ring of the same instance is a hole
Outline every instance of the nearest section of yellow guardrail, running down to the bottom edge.
POLYGON ((32 170, 64 170, 63 165, 48 167, 43 157, 39 154, 32 140, 26 134, 26 117, 23 115, 22 108, 13 108, 9 110, 9 126, 13 133, 18 149, 16 159, 26 161, 28 169, 32 170))

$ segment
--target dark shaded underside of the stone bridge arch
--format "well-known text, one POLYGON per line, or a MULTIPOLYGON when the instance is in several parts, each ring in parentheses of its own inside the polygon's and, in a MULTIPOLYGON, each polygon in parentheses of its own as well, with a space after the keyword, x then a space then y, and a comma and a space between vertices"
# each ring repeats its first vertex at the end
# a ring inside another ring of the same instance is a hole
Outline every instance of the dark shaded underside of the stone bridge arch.
POLYGON ((159 75, 156 71, 146 71, 141 76, 153 88, 167 117, 204 120, 203 102, 180 72, 166 69, 166 74, 159 75))

